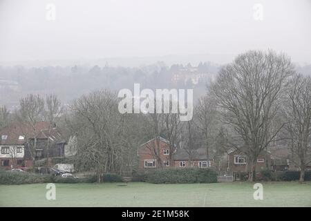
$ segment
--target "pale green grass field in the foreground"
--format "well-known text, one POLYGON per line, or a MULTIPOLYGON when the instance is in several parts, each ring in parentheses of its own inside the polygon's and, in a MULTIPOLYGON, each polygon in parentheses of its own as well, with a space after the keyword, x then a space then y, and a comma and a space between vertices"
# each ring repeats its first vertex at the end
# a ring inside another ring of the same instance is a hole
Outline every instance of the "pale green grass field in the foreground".
POLYGON ((0 206, 311 206, 311 182, 264 182, 263 200, 253 184, 46 184, 0 185, 0 206), (126 186, 124 186, 126 185, 126 186))

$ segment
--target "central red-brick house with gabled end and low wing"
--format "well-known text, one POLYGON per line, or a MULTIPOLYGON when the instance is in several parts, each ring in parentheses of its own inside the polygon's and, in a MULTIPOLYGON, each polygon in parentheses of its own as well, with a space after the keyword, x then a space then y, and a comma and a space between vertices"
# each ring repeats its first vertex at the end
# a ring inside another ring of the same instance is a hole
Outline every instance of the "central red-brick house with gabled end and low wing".
POLYGON ((205 148, 189 151, 175 146, 171 152, 169 142, 162 137, 158 137, 158 140, 153 138, 141 144, 138 148, 139 169, 183 168, 187 166, 207 168, 212 164, 212 160, 207 157, 205 148))

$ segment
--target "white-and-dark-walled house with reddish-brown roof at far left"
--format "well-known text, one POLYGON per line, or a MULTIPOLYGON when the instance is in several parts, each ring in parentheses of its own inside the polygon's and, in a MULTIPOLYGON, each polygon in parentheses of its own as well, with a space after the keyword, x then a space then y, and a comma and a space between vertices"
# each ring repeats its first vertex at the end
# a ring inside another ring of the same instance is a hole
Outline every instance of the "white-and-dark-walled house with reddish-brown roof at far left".
POLYGON ((30 124, 12 123, 0 130, 0 167, 5 169, 32 167, 35 160, 46 157, 46 146, 50 145, 50 157, 64 156, 66 141, 49 122, 37 122, 35 131, 30 124), (30 145, 37 139, 35 156, 30 145))

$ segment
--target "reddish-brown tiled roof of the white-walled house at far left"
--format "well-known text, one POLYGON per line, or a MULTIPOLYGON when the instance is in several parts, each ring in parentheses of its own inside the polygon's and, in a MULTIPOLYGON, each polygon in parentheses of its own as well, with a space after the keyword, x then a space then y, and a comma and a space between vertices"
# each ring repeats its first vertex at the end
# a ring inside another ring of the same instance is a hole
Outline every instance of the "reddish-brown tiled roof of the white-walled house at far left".
POLYGON ((2 128, 0 135, 6 135, 6 139, 1 139, 1 145, 23 145, 27 139, 37 137, 38 139, 47 138, 47 132, 50 131, 52 135, 57 135, 57 129, 55 125, 51 125, 50 122, 37 122, 35 124, 35 131, 30 124, 15 122, 2 128), (23 136, 24 139, 19 139, 19 136, 23 136))

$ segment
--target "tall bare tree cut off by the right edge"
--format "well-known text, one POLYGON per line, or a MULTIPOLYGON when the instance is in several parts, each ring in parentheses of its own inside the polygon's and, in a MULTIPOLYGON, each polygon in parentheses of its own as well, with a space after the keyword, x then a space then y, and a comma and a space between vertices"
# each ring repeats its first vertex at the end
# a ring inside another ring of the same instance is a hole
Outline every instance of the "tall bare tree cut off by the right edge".
POLYGON ((284 113, 293 162, 299 166, 299 182, 305 180, 305 169, 311 163, 311 77, 296 75, 290 81, 284 113))

